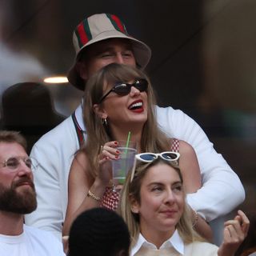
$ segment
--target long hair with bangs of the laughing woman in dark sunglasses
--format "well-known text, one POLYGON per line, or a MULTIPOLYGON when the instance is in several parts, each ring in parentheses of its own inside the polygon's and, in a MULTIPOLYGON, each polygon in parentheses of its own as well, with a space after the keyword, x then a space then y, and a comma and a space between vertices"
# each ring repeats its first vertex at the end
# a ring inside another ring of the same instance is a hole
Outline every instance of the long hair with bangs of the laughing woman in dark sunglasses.
POLYGON ((84 94, 83 118, 86 125, 86 143, 82 147, 89 165, 90 174, 96 177, 98 173, 98 154, 100 146, 114 140, 109 126, 103 124, 102 119, 94 112, 94 104, 99 104, 103 94, 104 84, 115 84, 116 82, 130 82, 136 78, 144 78, 148 82, 147 105, 148 116, 142 130, 141 150, 142 152, 162 152, 170 149, 170 140, 159 130, 154 113, 155 96, 149 78, 135 67, 111 63, 104 66, 94 74, 86 83, 84 94), (150 139, 149 139, 150 138, 150 139))

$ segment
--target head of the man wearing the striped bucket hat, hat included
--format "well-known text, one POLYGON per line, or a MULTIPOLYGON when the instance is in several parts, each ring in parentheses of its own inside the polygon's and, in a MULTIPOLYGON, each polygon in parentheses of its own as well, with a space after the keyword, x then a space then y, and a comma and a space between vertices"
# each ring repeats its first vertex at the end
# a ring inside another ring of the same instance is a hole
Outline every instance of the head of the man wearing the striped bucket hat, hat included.
POLYGON ((114 14, 94 14, 78 24, 73 34, 76 57, 68 79, 79 90, 97 70, 116 62, 144 69, 151 50, 130 36, 125 24, 114 14))

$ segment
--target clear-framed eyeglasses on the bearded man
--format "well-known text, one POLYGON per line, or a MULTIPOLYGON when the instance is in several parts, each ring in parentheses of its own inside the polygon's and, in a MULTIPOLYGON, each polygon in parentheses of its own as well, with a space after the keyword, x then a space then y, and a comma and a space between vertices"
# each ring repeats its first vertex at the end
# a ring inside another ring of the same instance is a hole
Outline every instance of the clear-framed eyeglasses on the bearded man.
POLYGON ((2 167, 7 167, 11 171, 17 170, 18 166, 21 164, 21 160, 29 167, 32 171, 36 170, 38 167, 38 161, 34 158, 8 158, 2 162, 2 167))

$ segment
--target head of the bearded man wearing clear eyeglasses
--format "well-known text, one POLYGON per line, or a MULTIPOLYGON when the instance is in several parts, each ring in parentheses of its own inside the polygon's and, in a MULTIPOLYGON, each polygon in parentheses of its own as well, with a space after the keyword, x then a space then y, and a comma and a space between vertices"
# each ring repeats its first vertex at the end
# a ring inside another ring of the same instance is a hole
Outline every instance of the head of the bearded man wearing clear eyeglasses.
POLYGON ((29 214, 37 207, 32 170, 34 159, 26 154, 26 139, 16 131, 0 131, 0 211, 29 214))

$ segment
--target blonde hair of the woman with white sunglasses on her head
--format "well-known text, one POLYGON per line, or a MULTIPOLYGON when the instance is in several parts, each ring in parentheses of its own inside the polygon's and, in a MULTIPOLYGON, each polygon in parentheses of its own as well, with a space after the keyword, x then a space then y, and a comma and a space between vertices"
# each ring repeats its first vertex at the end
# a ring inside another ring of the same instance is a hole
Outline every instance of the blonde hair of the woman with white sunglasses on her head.
MULTIPOLYGON (((118 208, 119 214, 122 215, 122 218, 125 220, 128 229, 130 231, 130 237, 131 237, 131 246, 134 246, 134 244, 137 242, 138 234, 140 233, 139 230, 139 215, 134 214, 131 211, 131 201, 134 200, 138 202, 138 204, 141 203, 140 198, 140 190, 142 185, 142 180, 146 175, 147 170, 150 169, 150 167, 156 166, 158 164, 166 164, 168 166, 171 166, 178 174, 181 182, 183 183, 182 174, 177 164, 174 162, 167 162, 162 160, 161 158, 158 158, 154 162, 145 163, 145 162, 138 162, 136 165, 134 178, 132 182, 130 182, 130 175, 128 174, 126 178, 126 182, 122 188, 122 194, 120 198, 120 205, 118 208)), ((205 241, 194 229, 193 224, 190 218, 190 209, 186 204, 185 199, 186 194, 183 194, 183 200, 185 202, 184 204, 184 211, 182 213, 182 217, 177 223, 176 229, 178 230, 178 234, 180 234, 183 242, 190 243, 194 241, 205 241)))

